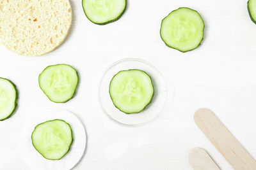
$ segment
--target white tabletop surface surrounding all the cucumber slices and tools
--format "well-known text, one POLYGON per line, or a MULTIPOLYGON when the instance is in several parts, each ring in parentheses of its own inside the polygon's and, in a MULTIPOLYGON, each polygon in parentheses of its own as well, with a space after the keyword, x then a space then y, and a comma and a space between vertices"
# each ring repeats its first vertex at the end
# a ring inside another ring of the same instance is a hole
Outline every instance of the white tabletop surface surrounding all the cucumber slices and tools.
POLYGON ((81 0, 72 0, 72 10, 70 34, 54 52, 24 57, 0 46, 0 76, 19 89, 17 112, 0 122, 1 170, 28 168, 17 152, 17 136, 27 115, 40 108, 67 108, 84 123, 88 145, 77 170, 191 169, 188 152, 196 146, 221 169, 232 169, 196 127, 193 114, 201 107, 213 110, 256 158, 256 25, 246 0, 130 0, 120 20, 103 26, 85 17, 81 0), (159 36, 161 20, 182 6, 197 10, 205 21, 202 45, 187 53, 168 48, 159 36), (151 62, 166 81, 174 81, 173 103, 142 127, 114 124, 97 98, 106 67, 127 57, 151 62), (80 77, 76 96, 65 104, 52 103, 38 87, 38 74, 60 63, 74 66, 80 77))

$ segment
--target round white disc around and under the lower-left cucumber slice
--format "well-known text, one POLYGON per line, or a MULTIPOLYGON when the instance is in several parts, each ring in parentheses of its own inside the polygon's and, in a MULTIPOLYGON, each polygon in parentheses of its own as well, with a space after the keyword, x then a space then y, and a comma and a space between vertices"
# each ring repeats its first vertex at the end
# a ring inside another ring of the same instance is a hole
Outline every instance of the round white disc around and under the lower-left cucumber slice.
POLYGON ((81 121, 70 111, 64 109, 38 110, 30 113, 28 122, 20 134, 19 153, 30 169, 65 170, 76 166, 83 157, 86 147, 86 132, 81 121), (70 124, 73 142, 68 153, 60 160, 47 160, 32 145, 31 134, 35 126, 47 120, 61 119, 70 124))

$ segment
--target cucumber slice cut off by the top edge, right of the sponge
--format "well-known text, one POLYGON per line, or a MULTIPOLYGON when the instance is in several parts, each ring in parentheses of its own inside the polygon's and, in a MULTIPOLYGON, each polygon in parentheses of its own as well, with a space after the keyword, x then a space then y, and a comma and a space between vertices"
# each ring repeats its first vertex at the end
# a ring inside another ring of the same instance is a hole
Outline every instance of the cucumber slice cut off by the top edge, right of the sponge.
POLYGON ((118 20, 126 8, 126 0, 83 0, 82 4, 86 17, 99 25, 118 20))

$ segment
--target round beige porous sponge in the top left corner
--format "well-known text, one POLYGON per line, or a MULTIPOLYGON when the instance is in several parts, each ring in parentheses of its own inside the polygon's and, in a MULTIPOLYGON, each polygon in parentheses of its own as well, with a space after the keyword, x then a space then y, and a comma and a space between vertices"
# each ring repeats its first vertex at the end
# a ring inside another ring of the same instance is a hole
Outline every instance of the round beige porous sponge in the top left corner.
POLYGON ((51 52, 71 23, 69 0, 0 0, 0 43, 20 55, 51 52))

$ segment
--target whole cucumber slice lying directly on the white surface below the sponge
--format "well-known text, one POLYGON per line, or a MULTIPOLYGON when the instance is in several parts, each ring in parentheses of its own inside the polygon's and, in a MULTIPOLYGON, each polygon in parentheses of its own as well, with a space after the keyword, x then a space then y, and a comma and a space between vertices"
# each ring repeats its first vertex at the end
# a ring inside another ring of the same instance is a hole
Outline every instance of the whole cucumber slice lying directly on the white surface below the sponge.
POLYGON ((78 75, 76 69, 67 64, 48 66, 39 75, 39 86, 55 103, 65 103, 76 92, 78 75))

